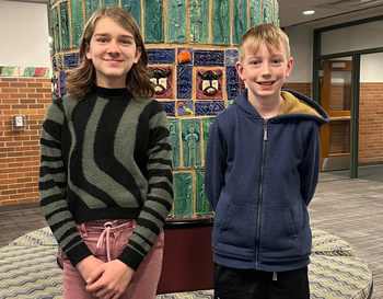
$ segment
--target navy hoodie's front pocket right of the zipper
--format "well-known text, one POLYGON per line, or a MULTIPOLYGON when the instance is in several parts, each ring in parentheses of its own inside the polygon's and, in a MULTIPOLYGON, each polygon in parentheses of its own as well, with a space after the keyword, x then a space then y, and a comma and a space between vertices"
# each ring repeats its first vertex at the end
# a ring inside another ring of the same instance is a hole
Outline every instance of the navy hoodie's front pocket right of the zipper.
POLYGON ((289 208, 264 209, 259 244, 265 257, 283 258, 300 255, 300 242, 289 208))

